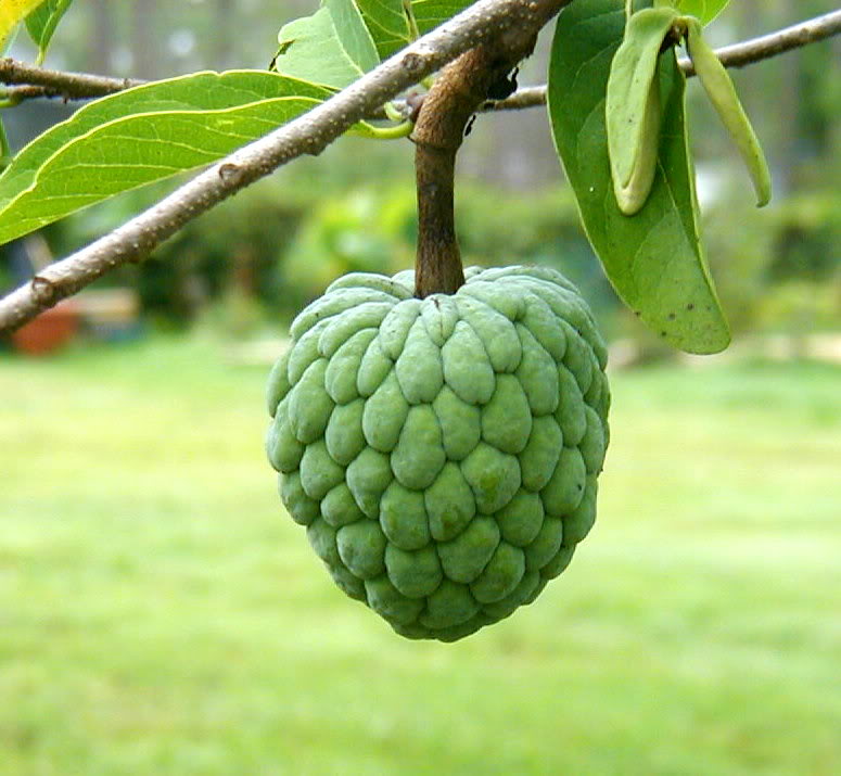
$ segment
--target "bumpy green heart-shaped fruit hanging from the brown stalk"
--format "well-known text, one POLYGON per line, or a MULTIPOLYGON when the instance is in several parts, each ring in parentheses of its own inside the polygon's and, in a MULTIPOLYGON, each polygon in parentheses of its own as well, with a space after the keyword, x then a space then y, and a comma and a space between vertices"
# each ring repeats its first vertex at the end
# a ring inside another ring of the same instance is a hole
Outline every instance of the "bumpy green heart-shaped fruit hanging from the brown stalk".
POLYGON ((453 641, 532 602, 596 517, 604 344, 555 270, 471 268, 456 294, 348 275, 295 319, 267 449, 336 585, 453 641))

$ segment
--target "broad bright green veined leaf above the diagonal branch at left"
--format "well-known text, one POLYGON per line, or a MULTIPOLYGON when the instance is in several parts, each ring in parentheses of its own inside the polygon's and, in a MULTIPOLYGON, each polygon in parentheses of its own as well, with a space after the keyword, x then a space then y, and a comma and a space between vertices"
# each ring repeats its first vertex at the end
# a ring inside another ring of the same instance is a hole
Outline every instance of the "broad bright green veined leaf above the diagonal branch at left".
POLYGON ((0 175, 0 243, 211 164, 331 93, 275 73, 233 71, 145 84, 89 103, 24 148, 0 175))

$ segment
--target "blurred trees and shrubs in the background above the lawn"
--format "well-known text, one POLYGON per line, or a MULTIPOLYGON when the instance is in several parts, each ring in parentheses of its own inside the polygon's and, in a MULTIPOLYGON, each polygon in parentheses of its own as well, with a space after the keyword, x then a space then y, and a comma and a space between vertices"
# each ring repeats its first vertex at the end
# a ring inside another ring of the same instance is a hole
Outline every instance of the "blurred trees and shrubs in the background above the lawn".
MULTIPOLYGON (((266 67, 277 29, 315 0, 80 0, 59 28, 47 65, 157 78, 202 68, 266 67), (217 35, 216 30, 231 30, 217 35)), ((739 0, 710 27, 713 44, 761 35, 834 10, 827 0, 739 0)), ((550 29, 519 76, 546 79, 550 29)), ((11 52, 31 59, 20 36, 11 52)), ((710 263, 737 334, 802 335, 841 326, 841 38, 734 71, 765 147, 775 196, 753 206, 735 148, 699 84, 689 109, 710 263)), ((31 101, 4 111, 14 148, 74 105, 31 101)), ((128 288, 152 329, 203 320, 260 336, 286 323, 336 276, 392 272, 412 262, 413 149, 408 140, 345 138, 296 160, 186 229, 139 266, 94 289, 128 288)), ((171 181, 46 229, 44 256, 65 256, 171 190, 171 181)), ((641 351, 657 344, 626 316, 581 229, 544 109, 485 115, 459 160, 457 224, 466 263, 528 262, 562 269, 608 333, 641 351)), ((0 289, 22 278, 0 247, 0 289), (14 276, 14 277, 13 277, 14 276)), ((20 272, 18 272, 20 275, 20 272)))

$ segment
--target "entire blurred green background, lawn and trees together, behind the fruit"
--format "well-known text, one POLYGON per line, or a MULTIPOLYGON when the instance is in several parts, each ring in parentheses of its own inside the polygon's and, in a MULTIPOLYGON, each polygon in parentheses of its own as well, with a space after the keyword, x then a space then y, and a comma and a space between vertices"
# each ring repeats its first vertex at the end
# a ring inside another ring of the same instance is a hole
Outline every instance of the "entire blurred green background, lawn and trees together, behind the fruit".
MULTIPOLYGON (((260 67, 314 4, 78 0, 47 65, 260 67)), ((829 10, 740 0, 711 36, 829 10)), ((544 80, 546 43, 522 84, 544 80)), ((337 275, 411 264, 409 142, 341 140, 98 283, 136 295, 130 326, 105 315, 49 358, 0 352, 0 774, 841 773, 840 44, 735 74, 774 169, 764 211, 690 89, 737 334, 713 358, 663 351, 617 304, 544 112, 476 122, 466 263, 548 264, 579 284, 614 404, 591 536, 534 605, 463 643, 403 640, 345 598, 262 446, 291 317, 337 275)), ((20 147, 69 110, 4 119, 20 147)), ((66 255, 170 189, 86 211, 33 250, 66 255)))

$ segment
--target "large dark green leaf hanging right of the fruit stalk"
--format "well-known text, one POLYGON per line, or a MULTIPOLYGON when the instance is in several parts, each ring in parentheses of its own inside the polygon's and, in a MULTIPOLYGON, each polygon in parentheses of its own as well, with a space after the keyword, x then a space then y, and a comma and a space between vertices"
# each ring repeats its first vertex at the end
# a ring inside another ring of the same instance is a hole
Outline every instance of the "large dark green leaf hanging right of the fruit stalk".
POLYGON ((663 124, 649 199, 627 217, 613 194, 604 103, 623 38, 623 0, 575 0, 561 12, 549 67, 555 143, 587 236, 619 295, 676 347, 717 353, 727 346, 729 332, 699 241, 685 78, 674 51, 664 52, 659 63, 663 124))

